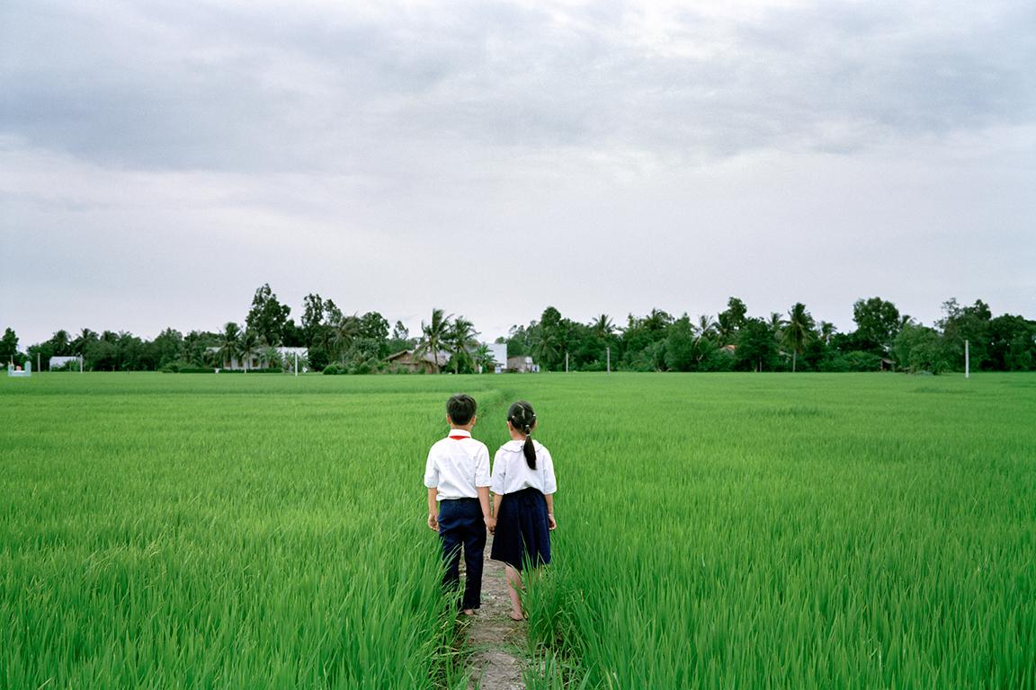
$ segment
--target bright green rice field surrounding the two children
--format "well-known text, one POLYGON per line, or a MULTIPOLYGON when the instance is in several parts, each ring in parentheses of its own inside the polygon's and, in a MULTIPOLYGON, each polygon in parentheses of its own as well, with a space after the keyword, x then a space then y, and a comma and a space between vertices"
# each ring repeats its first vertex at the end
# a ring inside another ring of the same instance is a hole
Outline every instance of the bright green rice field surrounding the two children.
POLYGON ((558 477, 529 687, 1036 688, 1036 376, 0 379, 0 688, 463 688, 447 397, 558 477))

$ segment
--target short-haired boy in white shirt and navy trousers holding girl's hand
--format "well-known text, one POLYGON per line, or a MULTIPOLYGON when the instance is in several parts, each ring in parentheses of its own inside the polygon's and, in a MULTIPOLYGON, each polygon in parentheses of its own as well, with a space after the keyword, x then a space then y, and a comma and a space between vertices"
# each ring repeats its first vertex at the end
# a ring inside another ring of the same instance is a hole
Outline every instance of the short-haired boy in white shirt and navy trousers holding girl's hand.
POLYGON ((477 409, 474 398, 464 393, 447 401, 450 436, 432 446, 425 466, 428 527, 437 530, 442 541, 447 562, 442 583, 448 588, 460 584, 460 548, 464 546, 467 577, 460 608, 467 616, 481 604, 486 528, 494 521, 489 512, 489 449, 471 438, 477 409))

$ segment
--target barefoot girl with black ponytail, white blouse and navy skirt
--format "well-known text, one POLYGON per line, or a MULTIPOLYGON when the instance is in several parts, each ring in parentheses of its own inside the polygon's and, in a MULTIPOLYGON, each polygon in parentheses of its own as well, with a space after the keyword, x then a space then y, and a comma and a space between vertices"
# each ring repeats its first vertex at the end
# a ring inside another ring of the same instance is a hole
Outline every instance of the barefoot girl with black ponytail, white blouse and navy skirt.
POLYGON ((490 558, 505 563, 511 618, 524 619, 518 590, 521 570, 550 563, 550 530, 554 521, 554 462, 550 453, 533 441, 536 413, 533 406, 518 400, 508 410, 511 441, 500 446, 493 458, 490 488, 496 519, 490 558))

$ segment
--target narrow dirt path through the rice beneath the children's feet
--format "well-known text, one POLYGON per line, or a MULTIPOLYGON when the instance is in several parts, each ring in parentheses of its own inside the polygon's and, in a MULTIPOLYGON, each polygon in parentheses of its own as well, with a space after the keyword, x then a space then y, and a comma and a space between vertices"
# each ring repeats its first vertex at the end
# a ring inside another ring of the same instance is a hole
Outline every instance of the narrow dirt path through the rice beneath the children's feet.
POLYGON ((522 674, 528 665, 525 658, 525 624, 508 616, 511 600, 503 579, 503 564, 491 561, 492 536, 486 542, 486 562, 482 576, 482 608, 471 617, 467 646, 471 651, 470 689, 524 690, 522 674))

